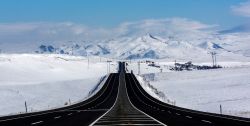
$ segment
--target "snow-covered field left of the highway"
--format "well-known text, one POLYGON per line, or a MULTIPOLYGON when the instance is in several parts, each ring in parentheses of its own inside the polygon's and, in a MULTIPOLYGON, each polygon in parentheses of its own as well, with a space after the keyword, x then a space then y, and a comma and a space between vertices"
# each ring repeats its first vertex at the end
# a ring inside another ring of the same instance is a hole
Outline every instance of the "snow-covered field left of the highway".
MULTIPOLYGON (((107 72, 107 59, 66 55, 1 54, 0 116, 84 100, 107 72)), ((111 63, 115 72, 117 64, 111 63)))

